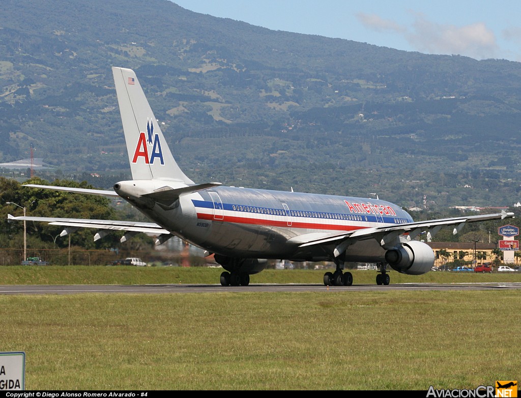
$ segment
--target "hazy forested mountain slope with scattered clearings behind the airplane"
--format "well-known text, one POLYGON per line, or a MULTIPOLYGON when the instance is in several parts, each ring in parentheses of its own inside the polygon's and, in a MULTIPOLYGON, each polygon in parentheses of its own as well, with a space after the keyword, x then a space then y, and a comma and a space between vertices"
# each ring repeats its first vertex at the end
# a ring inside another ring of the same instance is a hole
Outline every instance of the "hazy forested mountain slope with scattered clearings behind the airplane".
POLYGON ((111 66, 134 69, 199 182, 413 207, 517 202, 521 63, 425 55, 168 0, 3 0, 0 163, 129 173, 111 66))

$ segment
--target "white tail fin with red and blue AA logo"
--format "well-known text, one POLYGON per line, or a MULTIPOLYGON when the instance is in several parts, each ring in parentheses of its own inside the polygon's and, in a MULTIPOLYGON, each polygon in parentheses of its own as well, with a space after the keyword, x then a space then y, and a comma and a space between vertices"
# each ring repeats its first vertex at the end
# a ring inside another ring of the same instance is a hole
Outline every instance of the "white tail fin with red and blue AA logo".
POLYGON ((132 179, 193 184, 179 168, 134 71, 112 68, 132 179))

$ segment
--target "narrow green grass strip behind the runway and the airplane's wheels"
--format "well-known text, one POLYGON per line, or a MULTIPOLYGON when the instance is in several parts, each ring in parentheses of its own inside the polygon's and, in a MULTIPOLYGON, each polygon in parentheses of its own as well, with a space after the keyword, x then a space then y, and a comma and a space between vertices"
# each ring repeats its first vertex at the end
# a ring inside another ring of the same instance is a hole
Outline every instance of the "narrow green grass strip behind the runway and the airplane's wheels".
MULTIPOLYGON (((136 285, 136 284, 218 284, 222 268, 132 267, 132 266, 0 266, 0 285, 136 285)), ((328 271, 332 271, 329 269, 328 271)), ((251 276, 250 283, 322 283, 324 270, 266 269, 251 276)), ((353 283, 375 284, 376 271, 352 270, 353 283)), ((521 273, 429 272, 404 275, 391 271, 396 283, 476 283, 521 282, 521 273)))

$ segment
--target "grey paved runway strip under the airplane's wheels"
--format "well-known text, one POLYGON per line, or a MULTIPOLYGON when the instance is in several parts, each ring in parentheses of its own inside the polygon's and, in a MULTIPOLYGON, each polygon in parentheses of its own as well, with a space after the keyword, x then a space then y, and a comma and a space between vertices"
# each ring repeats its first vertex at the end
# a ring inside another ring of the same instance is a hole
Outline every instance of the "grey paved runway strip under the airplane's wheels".
POLYGON ((494 290, 521 289, 521 283, 473 284, 396 284, 331 286, 321 284, 221 285, 1 285, 0 294, 77 294, 77 293, 217 293, 217 292, 360 292, 390 290, 494 290))

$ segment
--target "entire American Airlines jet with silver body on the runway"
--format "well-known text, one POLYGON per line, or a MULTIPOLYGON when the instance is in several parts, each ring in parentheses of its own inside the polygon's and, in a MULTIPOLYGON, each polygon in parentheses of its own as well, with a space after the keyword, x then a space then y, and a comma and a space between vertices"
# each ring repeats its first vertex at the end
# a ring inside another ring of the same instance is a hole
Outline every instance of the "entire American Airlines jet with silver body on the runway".
POLYGON ((457 234, 466 223, 505 219, 514 213, 460 216, 415 222, 394 203, 381 199, 319 195, 196 184, 179 168, 131 69, 112 68, 132 179, 114 190, 27 184, 33 188, 121 197, 152 222, 14 217, 11 220, 64 226, 61 236, 78 228, 96 228, 94 240, 122 230, 121 241, 138 233, 157 236, 159 245, 172 236, 205 251, 225 269, 222 286, 247 286, 268 259, 296 262, 331 261, 326 286, 351 286, 346 262, 376 263, 378 285, 389 285, 389 267, 421 275, 434 265, 435 255, 420 234, 430 240, 441 228, 457 234))

